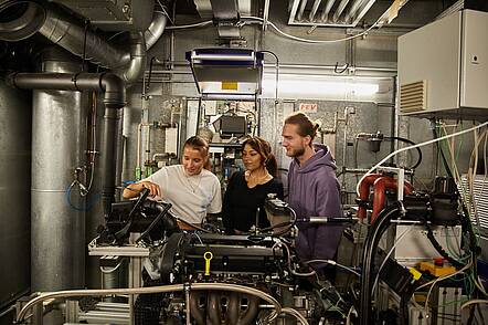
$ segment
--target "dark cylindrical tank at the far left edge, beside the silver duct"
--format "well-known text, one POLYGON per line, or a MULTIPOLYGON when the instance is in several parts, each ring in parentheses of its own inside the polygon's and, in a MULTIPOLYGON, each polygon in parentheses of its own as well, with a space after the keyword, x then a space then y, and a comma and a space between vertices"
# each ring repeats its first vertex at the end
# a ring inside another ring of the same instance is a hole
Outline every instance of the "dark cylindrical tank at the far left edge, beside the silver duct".
POLYGON ((31 282, 31 97, 3 81, 0 81, 0 310, 3 310, 29 291, 31 282))

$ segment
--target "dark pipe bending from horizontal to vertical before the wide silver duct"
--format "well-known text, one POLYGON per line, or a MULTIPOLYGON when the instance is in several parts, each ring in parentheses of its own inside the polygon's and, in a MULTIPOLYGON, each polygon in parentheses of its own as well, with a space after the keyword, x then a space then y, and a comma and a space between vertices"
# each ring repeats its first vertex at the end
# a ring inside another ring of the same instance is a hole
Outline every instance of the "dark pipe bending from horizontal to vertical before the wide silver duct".
POLYGON ((113 73, 13 73, 8 82, 25 90, 56 91, 100 91, 104 93, 104 135, 103 135, 103 205, 107 218, 115 201, 116 178, 116 134, 120 120, 120 109, 126 105, 125 82, 113 73))

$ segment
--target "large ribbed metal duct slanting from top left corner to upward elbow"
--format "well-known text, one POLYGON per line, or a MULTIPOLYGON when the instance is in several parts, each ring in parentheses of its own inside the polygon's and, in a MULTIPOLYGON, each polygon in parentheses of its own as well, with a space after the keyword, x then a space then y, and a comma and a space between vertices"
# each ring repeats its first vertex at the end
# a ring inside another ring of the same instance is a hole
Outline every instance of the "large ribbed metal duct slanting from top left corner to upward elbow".
POLYGON ((123 51, 97 33, 86 30, 84 23, 54 4, 45 3, 41 8, 32 1, 6 1, 0 4, 0 40, 21 40, 39 30, 51 42, 74 55, 82 57, 85 49, 86 60, 117 70, 128 83, 136 82, 142 75, 147 50, 162 35, 168 20, 163 13, 153 12, 149 28, 144 32, 134 32, 130 51, 123 51))

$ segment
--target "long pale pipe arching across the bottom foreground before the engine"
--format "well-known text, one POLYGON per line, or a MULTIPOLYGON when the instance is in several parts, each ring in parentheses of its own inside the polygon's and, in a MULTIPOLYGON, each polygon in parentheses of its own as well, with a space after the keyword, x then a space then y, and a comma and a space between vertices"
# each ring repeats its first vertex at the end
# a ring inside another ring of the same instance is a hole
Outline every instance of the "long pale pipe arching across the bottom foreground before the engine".
POLYGON ((36 304, 51 298, 59 297, 72 297, 72 296, 105 296, 117 294, 146 294, 146 293, 167 293, 167 292, 181 292, 184 290, 190 291, 231 291, 236 293, 244 293, 262 298, 273 304, 275 311, 269 315, 267 322, 272 324, 274 319, 282 313, 282 305, 272 295, 264 291, 231 283, 191 283, 191 284, 170 284, 159 286, 146 286, 146 287, 130 287, 130 289, 105 289, 105 290, 66 290, 57 292, 41 293, 39 296, 29 301, 17 315, 17 323, 22 323, 26 313, 36 304))

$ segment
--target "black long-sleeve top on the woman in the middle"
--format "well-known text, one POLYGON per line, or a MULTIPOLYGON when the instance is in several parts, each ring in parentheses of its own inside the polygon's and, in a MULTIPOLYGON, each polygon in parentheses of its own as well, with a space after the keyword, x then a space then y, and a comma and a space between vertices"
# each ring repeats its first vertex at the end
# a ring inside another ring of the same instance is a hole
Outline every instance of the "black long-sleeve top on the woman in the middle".
POLYGON ((283 200, 283 185, 276 178, 254 188, 247 187, 244 172, 236 171, 229 180, 222 207, 222 221, 227 233, 234 229, 248 231, 256 223, 256 211, 259 208, 259 228, 269 227, 264 202, 268 193, 276 193, 283 200))

